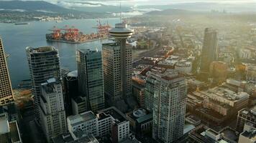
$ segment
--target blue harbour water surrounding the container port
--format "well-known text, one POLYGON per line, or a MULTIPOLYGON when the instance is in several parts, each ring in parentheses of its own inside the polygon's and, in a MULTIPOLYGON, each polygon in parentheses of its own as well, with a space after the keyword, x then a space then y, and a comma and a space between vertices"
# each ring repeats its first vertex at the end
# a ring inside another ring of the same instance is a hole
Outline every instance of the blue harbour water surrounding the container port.
MULTIPOLYGON (((119 22, 119 19, 101 19, 101 23, 109 22, 111 26, 119 22)), ((29 25, 0 24, 0 36, 4 44, 6 54, 10 54, 7 59, 9 74, 12 86, 15 88, 23 79, 29 79, 29 68, 25 49, 27 46, 55 46, 60 54, 60 66, 63 69, 76 70, 76 49, 99 49, 103 41, 92 41, 84 44, 66 44, 58 42, 47 42, 45 34, 50 33, 48 29, 53 26, 64 28, 65 25, 75 26, 85 34, 96 32, 93 29, 97 25, 96 19, 72 19, 62 23, 55 21, 32 21, 29 25)))

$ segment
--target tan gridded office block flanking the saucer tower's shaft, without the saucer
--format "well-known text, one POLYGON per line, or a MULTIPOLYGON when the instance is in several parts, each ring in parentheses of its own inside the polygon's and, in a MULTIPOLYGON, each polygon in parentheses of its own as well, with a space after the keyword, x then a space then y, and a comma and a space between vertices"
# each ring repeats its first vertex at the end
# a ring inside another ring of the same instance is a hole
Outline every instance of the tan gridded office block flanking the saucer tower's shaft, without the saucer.
POLYGON ((108 43, 102 45, 103 65, 104 65, 104 87, 105 93, 111 97, 111 101, 117 102, 132 95, 132 47, 126 46, 126 88, 122 87, 122 63, 121 47, 118 43, 108 43), (126 93, 123 95, 122 90, 126 93))

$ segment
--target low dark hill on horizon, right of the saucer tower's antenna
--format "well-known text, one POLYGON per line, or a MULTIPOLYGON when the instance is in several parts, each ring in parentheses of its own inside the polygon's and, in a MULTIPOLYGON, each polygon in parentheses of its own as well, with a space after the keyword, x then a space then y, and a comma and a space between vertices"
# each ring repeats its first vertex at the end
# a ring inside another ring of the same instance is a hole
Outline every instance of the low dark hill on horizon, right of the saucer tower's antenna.
POLYGON ((187 11, 183 9, 165 9, 163 11, 150 11, 147 15, 177 15, 177 14, 199 14, 198 11, 187 11))

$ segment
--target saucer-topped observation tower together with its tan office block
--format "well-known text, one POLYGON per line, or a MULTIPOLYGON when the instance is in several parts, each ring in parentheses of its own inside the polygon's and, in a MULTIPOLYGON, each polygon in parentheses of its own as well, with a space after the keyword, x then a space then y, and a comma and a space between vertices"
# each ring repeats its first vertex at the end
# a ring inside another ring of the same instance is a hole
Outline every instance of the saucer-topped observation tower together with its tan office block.
POLYGON ((116 24, 109 31, 116 43, 103 44, 105 93, 114 102, 132 95, 132 47, 127 46, 132 33, 127 24, 116 24))

